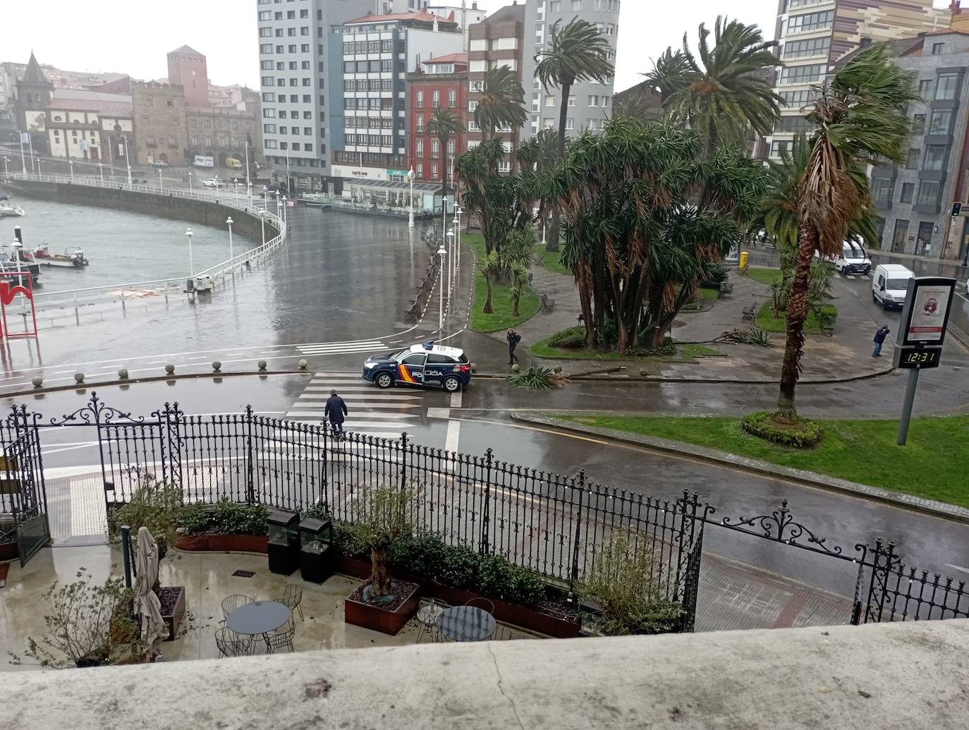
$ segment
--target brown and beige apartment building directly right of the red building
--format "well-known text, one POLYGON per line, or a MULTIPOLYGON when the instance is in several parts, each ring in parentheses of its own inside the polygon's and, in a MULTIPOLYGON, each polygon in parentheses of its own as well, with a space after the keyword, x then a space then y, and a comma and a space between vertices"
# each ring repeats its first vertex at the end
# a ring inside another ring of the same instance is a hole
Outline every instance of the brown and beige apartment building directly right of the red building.
MULTIPOLYGON (((487 16, 468 29, 468 146, 482 142, 482 130, 475 124, 474 112, 481 98, 482 84, 489 69, 508 66, 521 74, 522 53, 525 47, 525 6, 508 5, 487 16)), ((499 163, 499 171, 513 173, 517 169, 516 149, 522 139, 522 130, 507 127, 499 129, 505 145, 505 159, 499 163)))

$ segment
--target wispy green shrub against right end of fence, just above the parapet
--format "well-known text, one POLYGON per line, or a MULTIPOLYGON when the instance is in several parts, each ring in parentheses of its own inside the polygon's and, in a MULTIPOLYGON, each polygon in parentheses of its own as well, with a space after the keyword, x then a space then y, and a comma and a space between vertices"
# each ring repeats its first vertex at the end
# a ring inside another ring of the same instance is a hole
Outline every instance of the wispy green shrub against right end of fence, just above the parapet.
POLYGON ((625 535, 612 536, 603 545, 580 588, 589 633, 622 636, 680 630, 683 608, 650 581, 653 568, 652 551, 634 551, 625 535))

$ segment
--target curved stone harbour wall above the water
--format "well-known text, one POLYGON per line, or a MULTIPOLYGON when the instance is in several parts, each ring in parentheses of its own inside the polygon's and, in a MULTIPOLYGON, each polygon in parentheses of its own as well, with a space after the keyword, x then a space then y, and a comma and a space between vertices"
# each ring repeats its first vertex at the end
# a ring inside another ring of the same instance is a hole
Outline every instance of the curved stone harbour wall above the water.
MULTIPOLYGON (((226 218, 233 218, 233 234, 262 242, 263 234, 259 217, 238 208, 208 201, 176 198, 169 193, 140 193, 120 189, 72 185, 70 183, 38 182, 36 180, 7 181, 6 186, 19 195, 31 198, 74 203, 78 206, 113 207, 134 213, 158 215, 213 228, 226 228, 226 218)), ((266 221, 266 240, 279 232, 266 221)))

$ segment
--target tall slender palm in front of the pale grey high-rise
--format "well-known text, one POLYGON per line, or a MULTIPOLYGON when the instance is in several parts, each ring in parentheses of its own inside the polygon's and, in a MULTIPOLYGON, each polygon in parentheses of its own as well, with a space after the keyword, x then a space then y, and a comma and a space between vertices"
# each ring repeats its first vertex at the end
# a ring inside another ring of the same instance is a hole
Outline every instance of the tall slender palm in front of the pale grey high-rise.
MULTIPOLYGON (((556 20, 551 26, 547 48, 535 54, 535 78, 542 81, 548 91, 557 86, 562 93, 558 111, 557 158, 565 158, 565 125, 569 115, 569 94, 576 81, 606 83, 615 69, 609 60, 610 45, 599 28, 588 20, 574 17, 561 25, 556 20)), ((548 250, 558 247, 558 208, 551 211, 548 229, 548 250)))

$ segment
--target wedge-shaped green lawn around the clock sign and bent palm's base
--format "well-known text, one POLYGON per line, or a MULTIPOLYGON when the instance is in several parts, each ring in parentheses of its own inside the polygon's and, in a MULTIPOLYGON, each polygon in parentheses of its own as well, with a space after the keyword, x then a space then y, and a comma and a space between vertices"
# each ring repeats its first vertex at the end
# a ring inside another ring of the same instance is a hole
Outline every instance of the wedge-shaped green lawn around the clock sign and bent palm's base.
MULTIPOLYGON (((742 457, 828 474, 874 487, 969 507, 969 416, 912 419, 906 446, 897 421, 820 421, 811 449, 778 446, 746 433, 735 418, 563 416, 571 421, 685 441, 742 457)), ((689 487, 689 485, 686 485, 689 487)))

